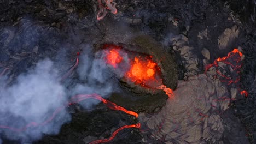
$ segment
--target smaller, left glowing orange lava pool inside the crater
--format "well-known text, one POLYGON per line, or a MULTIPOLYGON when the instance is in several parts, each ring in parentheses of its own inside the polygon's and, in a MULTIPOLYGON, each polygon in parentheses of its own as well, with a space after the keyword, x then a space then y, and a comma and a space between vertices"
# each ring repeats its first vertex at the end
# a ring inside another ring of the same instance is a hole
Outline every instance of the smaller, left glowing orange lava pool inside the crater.
POLYGON ((117 68, 117 65, 123 61, 123 57, 121 57, 119 49, 106 51, 106 54, 107 64, 112 65, 114 68, 117 68))

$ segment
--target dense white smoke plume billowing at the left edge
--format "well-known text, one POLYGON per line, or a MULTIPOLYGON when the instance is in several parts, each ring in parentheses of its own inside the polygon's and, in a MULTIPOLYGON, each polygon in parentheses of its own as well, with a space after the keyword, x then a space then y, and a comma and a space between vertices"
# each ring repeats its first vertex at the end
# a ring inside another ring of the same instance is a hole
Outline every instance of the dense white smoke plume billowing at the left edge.
POLYGON ((47 121, 54 111, 65 104, 65 88, 57 81, 57 70, 49 59, 38 62, 36 68, 18 76, 16 83, 1 91, 0 132, 11 139, 40 139, 43 134, 57 134, 63 123, 71 120, 65 110, 52 122, 47 121), (36 127, 26 126, 32 122, 36 127), (8 126, 5 129, 3 126, 8 126), (10 130, 15 128, 18 130, 10 130), (24 130, 21 130, 24 129, 24 130))

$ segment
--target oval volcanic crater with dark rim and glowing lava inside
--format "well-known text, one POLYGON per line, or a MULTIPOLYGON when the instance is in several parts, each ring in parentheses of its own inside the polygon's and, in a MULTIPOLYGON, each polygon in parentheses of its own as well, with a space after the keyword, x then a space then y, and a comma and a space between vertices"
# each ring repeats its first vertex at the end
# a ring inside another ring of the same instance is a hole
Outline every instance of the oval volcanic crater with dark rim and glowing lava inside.
POLYGON ((130 43, 133 44, 98 45, 97 50, 103 49, 109 68, 120 75, 123 92, 113 93, 110 100, 138 112, 159 110, 171 97, 166 92, 171 93, 176 87, 176 63, 165 61, 174 58, 169 53, 162 55, 163 47, 147 35, 135 37, 130 43), (149 101, 155 103, 148 105, 149 101))

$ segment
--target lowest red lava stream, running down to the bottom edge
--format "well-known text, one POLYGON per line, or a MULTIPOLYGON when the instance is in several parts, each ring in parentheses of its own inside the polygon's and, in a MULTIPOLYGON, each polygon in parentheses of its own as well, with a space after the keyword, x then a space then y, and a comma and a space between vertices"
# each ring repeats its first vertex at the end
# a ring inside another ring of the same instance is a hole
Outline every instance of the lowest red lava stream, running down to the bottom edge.
POLYGON ((110 136, 108 139, 95 140, 95 141, 90 142, 89 144, 109 142, 114 139, 115 135, 117 135, 119 133, 119 131, 121 131, 125 128, 140 128, 140 127, 141 127, 141 123, 132 124, 132 125, 124 125, 123 127, 120 127, 117 130, 115 130, 114 133, 112 134, 112 136, 110 136))

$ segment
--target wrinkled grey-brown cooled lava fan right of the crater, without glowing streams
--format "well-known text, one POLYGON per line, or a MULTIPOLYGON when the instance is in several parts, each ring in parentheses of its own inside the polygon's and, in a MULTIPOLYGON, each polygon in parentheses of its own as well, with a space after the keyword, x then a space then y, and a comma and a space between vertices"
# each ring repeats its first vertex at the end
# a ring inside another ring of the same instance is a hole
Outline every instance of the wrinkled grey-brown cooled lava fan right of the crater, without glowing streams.
MULTIPOLYGON (((240 56, 237 53, 235 57, 240 56)), ((211 67, 206 74, 178 81, 174 98, 169 98, 160 112, 139 116, 144 123, 144 135, 149 136, 146 142, 152 143, 150 140, 154 139, 164 143, 249 143, 234 111, 228 110, 230 102, 241 96, 235 82, 226 85, 222 77, 237 79, 237 65, 240 62, 234 63, 232 69, 229 64, 218 62, 218 67, 211 67)))

